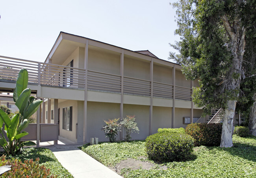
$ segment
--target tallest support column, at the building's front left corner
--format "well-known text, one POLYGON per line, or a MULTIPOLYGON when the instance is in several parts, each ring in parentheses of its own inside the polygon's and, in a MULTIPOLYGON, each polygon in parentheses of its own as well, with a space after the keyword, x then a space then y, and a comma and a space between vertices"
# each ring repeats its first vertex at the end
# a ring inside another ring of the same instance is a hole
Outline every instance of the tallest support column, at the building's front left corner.
POLYGON ((85 44, 85 54, 84 54, 84 69, 85 69, 85 87, 84 87, 84 103, 83 103, 83 143, 86 143, 87 137, 87 80, 88 80, 88 40, 85 44))

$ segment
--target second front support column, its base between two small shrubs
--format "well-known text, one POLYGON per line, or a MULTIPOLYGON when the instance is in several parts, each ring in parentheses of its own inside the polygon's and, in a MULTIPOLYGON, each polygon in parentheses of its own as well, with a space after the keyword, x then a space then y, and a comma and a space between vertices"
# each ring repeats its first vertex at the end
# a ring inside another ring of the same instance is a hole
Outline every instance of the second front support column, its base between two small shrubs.
MULTIPOLYGON (((120 59, 120 75, 121 75, 121 103, 120 103, 120 119, 123 118, 123 110, 124 110, 124 50, 121 53, 120 59)), ((122 140, 122 128, 119 132, 119 140, 122 140)))

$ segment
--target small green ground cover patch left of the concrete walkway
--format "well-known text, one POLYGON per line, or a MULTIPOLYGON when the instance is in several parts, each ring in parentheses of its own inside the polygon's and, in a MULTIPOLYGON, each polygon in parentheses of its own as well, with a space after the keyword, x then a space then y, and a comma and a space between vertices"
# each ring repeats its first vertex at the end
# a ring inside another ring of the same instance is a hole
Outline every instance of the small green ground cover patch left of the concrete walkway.
MULTIPOLYGON (((45 148, 25 148, 17 154, 13 156, 13 158, 20 159, 22 162, 24 160, 30 160, 35 158, 39 158, 39 163, 45 165, 47 169, 50 169, 52 174, 57 174, 58 178, 72 178, 72 174, 65 169, 61 163, 57 160, 51 150, 45 148)), ((6 158, 7 159, 7 158, 6 158)))

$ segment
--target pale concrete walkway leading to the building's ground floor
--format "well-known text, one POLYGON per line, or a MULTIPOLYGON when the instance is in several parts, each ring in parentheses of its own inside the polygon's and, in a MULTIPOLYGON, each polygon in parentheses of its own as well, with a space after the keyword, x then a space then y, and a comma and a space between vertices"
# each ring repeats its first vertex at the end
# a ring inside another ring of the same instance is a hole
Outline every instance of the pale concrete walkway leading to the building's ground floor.
POLYGON ((58 145, 52 142, 40 143, 40 147, 50 149, 58 161, 74 178, 122 178, 102 163, 78 149, 82 146, 70 140, 59 138, 58 145))

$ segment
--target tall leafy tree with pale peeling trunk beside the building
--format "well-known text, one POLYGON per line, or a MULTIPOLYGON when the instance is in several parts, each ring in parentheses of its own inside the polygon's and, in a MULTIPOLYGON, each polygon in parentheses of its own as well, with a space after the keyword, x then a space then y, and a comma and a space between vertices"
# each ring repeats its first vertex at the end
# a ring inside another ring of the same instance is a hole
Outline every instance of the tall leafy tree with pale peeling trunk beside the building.
POLYGON ((250 21, 245 19, 251 17, 245 16, 255 1, 179 0, 173 6, 177 8, 175 33, 181 40, 171 45, 180 54, 170 53, 170 58, 182 64, 187 79, 199 79, 200 86, 194 88, 192 96, 198 107, 205 113, 223 108, 220 146, 232 147, 240 84, 246 78, 243 59, 250 21))

